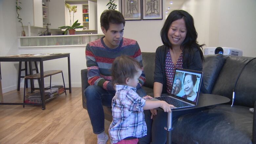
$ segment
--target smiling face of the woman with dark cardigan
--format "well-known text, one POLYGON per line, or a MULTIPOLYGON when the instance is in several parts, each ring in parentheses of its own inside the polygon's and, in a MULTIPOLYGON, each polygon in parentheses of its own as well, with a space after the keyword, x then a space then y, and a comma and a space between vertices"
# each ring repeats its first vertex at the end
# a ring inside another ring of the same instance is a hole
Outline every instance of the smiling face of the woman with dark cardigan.
POLYGON ((180 47, 186 37, 186 34, 187 29, 185 21, 181 18, 172 22, 168 31, 168 39, 173 47, 180 47))

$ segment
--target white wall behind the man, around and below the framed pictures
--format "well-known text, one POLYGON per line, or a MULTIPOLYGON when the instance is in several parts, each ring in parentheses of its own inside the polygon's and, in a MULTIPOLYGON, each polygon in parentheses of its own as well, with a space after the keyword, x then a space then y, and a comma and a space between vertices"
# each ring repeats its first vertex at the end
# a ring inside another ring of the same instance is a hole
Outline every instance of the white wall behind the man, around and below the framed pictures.
MULTIPOLYGON (((106 4, 109 0, 97 1, 98 16, 98 33, 102 33, 100 29, 100 15, 107 9, 106 4)), ((117 10, 121 12, 121 0, 116 2, 117 10)), ((163 8, 165 8, 165 0, 163 0, 163 8)), ((164 13, 164 10, 163 10, 164 13)), ((142 18, 141 18, 142 19, 142 18)), ((129 20, 125 21, 124 37, 135 39, 138 41, 141 51, 155 52, 157 47, 162 45, 160 31, 164 23, 163 20, 129 20)))

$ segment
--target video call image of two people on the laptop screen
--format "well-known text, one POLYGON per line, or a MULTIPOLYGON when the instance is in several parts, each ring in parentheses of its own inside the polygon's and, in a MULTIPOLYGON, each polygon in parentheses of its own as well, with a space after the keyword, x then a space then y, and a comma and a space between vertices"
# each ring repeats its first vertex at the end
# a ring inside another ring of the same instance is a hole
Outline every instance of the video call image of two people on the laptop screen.
POLYGON ((196 102, 201 74, 177 70, 174 77, 172 94, 196 102))

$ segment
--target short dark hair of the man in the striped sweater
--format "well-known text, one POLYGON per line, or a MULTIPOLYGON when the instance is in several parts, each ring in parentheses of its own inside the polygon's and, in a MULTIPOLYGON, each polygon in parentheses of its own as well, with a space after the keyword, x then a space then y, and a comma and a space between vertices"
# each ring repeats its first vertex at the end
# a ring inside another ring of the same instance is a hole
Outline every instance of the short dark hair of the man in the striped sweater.
POLYGON ((122 13, 117 10, 104 10, 100 15, 100 27, 108 31, 110 24, 123 24, 124 26, 125 20, 122 13))

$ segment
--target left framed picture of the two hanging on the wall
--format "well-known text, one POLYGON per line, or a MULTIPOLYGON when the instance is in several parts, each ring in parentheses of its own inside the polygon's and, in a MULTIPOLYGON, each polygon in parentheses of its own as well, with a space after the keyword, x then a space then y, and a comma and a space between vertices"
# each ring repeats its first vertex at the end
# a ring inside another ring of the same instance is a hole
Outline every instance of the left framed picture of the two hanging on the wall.
POLYGON ((121 5, 125 20, 141 20, 140 0, 121 0, 121 5))

